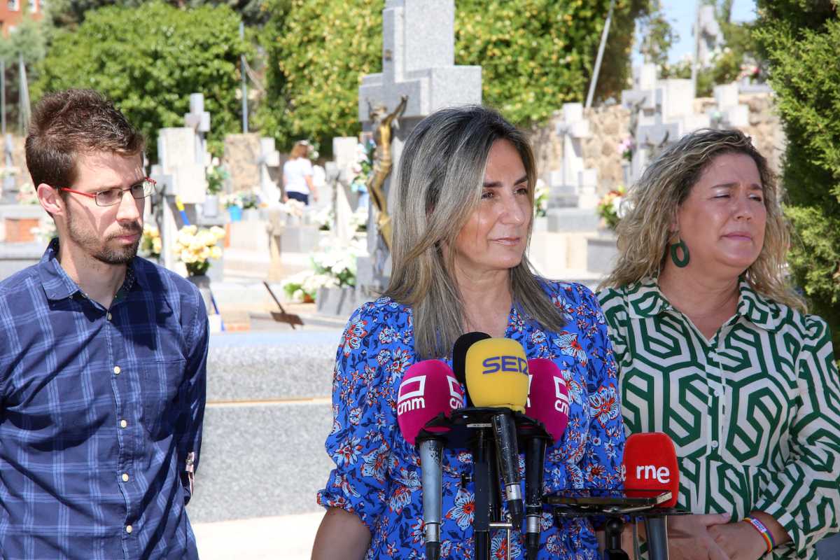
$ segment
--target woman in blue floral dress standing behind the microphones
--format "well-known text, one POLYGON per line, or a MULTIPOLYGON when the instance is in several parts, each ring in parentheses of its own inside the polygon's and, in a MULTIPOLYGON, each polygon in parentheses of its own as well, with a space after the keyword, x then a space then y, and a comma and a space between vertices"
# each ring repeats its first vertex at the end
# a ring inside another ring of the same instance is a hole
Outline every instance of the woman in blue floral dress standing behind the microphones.
MULTIPOLYGON (((621 484, 624 430, 606 326, 590 290, 531 270, 534 183, 528 142, 485 107, 443 109, 409 134, 393 187, 391 283, 354 312, 339 346, 327 438, 336 468, 318 493, 327 513, 316 560, 423 557, 419 458, 396 427, 397 391, 417 360, 451 365, 465 332, 512 338, 529 359, 552 359, 568 375, 569 427, 547 451, 545 488, 621 484)), ((443 465, 441 557, 471 557, 471 453, 446 449, 443 465)), ((558 527, 546 515, 542 526, 539 558, 598 557, 591 521, 558 527)), ((492 557, 524 557, 521 527, 511 536, 492 537, 492 557)))

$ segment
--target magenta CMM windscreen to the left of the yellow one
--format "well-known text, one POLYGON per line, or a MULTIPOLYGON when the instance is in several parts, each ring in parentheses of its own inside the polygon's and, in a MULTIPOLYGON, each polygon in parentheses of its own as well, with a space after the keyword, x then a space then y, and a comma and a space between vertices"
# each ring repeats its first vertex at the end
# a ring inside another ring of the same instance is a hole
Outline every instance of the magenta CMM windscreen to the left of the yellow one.
MULTIPOLYGON (((402 437, 415 445, 417 434, 426 423, 441 412, 446 415, 464 406, 464 390, 452 369, 437 359, 412 364, 402 377, 396 397, 396 423, 402 437)), ((428 432, 446 432, 446 428, 429 428, 428 432)))

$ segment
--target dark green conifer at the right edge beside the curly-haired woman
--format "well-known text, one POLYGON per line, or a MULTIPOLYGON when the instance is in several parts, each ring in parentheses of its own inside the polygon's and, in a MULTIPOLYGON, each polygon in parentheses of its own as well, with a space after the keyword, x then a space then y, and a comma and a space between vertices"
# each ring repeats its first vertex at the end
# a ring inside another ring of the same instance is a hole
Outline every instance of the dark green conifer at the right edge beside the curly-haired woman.
POLYGON ((840 355, 840 20, 828 0, 759 1, 755 37, 785 124, 790 265, 840 355))

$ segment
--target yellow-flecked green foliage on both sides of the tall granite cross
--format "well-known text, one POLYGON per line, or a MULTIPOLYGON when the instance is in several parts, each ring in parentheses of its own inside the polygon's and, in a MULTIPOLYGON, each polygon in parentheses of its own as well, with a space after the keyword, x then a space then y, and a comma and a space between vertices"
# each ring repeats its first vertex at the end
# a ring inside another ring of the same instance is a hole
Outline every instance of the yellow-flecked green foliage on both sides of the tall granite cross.
MULTIPOLYGON (((617 0, 596 98, 627 86, 635 19, 650 0, 617 0)), ((483 102, 513 122, 544 121, 589 86, 609 0, 457 0, 455 64, 481 65, 483 102)), ((358 133, 358 88, 381 71, 381 0, 268 0, 260 129, 283 147, 358 133)))

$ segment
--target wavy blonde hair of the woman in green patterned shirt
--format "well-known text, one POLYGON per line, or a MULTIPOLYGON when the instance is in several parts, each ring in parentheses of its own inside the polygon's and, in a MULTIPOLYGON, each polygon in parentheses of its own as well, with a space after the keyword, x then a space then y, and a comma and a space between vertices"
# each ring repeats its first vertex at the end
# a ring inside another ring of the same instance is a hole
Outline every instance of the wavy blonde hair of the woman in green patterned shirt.
POLYGON ((764 297, 797 311, 806 311, 805 301, 786 280, 786 254, 790 230, 782 214, 780 189, 767 160, 749 137, 739 130, 703 128, 685 135, 664 149, 644 170, 642 178, 627 193, 627 214, 618 223, 618 260, 612 274, 599 288, 619 288, 646 277, 656 278, 668 254, 669 231, 680 204, 688 197, 706 166, 718 155, 746 154, 759 168, 764 189, 767 225, 759 258, 744 276, 764 297))

